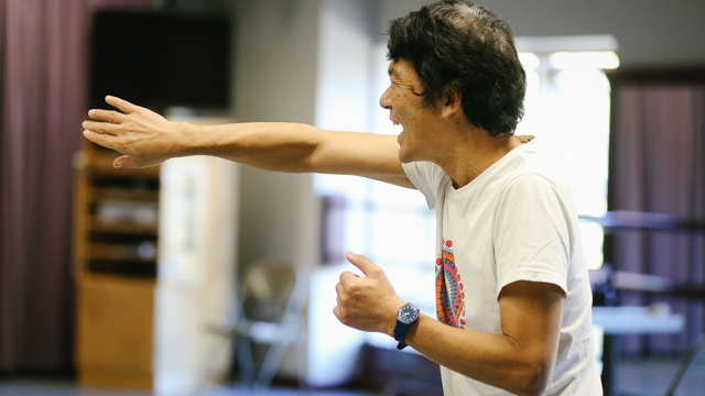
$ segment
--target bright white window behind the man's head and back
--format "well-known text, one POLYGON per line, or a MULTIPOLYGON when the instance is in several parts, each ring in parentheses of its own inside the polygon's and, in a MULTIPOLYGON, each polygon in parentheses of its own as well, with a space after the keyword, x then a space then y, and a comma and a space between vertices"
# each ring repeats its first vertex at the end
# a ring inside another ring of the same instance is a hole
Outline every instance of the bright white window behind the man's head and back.
MULTIPOLYGON (((619 66, 615 38, 518 37, 517 46, 527 72, 525 116, 517 134, 535 135, 558 164, 578 216, 605 216, 610 88, 604 70, 619 66)), ((588 267, 597 270, 603 265, 603 227, 581 222, 581 233, 588 267)))

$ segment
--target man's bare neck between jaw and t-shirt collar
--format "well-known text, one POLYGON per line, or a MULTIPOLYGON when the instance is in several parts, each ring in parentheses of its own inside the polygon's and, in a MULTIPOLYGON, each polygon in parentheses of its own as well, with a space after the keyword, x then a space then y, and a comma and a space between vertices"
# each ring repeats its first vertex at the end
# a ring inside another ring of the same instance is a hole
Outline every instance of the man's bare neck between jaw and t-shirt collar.
POLYGON ((436 162, 460 188, 477 178, 510 151, 521 145, 512 134, 491 136, 486 130, 471 127, 448 141, 446 155, 436 162), (469 133, 468 133, 469 132, 469 133))

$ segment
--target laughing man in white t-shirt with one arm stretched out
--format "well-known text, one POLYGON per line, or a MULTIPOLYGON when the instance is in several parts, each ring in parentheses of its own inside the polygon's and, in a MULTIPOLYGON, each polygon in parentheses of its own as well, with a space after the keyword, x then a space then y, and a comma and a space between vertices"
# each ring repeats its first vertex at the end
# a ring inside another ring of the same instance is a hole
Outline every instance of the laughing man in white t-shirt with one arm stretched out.
POLYGON ((437 217, 437 320, 401 300, 384 273, 347 254, 336 317, 394 337, 442 366, 446 395, 599 395, 592 295, 567 183, 513 130, 525 77, 510 28, 469 1, 393 21, 391 85, 380 99, 394 139, 291 123, 199 127, 108 97, 85 136, 116 167, 207 154, 279 172, 371 177, 417 188, 437 217))

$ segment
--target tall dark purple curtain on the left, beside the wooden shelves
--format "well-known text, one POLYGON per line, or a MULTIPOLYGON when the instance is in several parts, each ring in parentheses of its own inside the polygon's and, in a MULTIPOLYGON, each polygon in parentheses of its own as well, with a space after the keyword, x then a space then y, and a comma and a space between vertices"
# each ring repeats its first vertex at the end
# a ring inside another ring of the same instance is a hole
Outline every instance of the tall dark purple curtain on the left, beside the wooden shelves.
POLYGON ((0 0, 0 372, 73 364, 72 158, 91 12, 151 0, 0 0))

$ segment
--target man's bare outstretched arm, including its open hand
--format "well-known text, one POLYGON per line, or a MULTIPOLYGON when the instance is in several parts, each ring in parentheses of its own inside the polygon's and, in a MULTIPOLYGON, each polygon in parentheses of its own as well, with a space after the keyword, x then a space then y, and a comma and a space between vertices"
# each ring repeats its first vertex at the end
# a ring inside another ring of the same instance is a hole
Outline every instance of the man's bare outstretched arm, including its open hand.
POLYGON ((330 132, 301 123, 195 125, 116 97, 118 108, 90 110, 84 135, 124 155, 116 167, 143 167, 187 155, 214 155, 267 170, 367 176, 413 188, 398 157, 397 136, 330 132))

